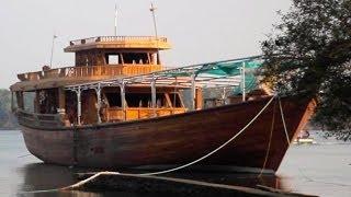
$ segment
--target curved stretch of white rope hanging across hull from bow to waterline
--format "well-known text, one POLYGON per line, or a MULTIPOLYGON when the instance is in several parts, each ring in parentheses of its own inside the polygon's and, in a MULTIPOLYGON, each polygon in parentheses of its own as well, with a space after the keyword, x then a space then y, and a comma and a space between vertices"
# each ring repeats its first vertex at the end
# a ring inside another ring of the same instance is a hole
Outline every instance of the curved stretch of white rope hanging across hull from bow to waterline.
POLYGON ((191 166, 208 157, 211 157, 212 154, 216 153, 217 151, 219 151, 220 149, 223 149, 224 147, 226 147, 228 143, 230 143, 233 140, 235 140, 238 136, 240 136, 263 112, 264 109, 271 104, 271 102, 275 99, 275 96, 272 96, 272 99, 262 107, 262 109, 239 131, 237 132, 235 136, 233 136, 229 140, 227 140, 225 143, 223 143, 220 147, 218 147, 217 149, 211 151, 210 153, 203 155, 202 158, 199 158, 195 161, 192 161, 190 163, 186 163, 184 165, 174 167, 174 169, 170 169, 170 170, 166 170, 166 171, 159 171, 159 172, 154 172, 154 173, 141 173, 138 175, 145 175, 145 176, 149 176, 149 175, 159 175, 159 174, 166 174, 166 173, 170 173, 170 172, 174 172, 181 169, 185 169, 188 166, 191 166))

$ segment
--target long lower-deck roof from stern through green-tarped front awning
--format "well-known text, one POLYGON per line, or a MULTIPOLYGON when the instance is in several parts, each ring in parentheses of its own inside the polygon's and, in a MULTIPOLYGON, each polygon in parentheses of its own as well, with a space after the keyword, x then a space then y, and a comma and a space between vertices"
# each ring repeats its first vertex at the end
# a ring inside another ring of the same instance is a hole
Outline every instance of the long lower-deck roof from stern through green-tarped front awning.
POLYGON ((156 86, 191 88, 194 81, 199 88, 234 88, 240 93, 242 83, 242 67, 245 67, 246 90, 257 88, 256 70, 261 66, 261 56, 192 65, 167 69, 140 76, 106 76, 102 79, 93 78, 48 78, 29 80, 11 85, 12 91, 34 91, 64 86, 67 90, 95 89, 97 86, 118 86, 122 83, 128 86, 147 86, 155 82, 156 86), (194 80, 193 80, 194 78, 194 80))

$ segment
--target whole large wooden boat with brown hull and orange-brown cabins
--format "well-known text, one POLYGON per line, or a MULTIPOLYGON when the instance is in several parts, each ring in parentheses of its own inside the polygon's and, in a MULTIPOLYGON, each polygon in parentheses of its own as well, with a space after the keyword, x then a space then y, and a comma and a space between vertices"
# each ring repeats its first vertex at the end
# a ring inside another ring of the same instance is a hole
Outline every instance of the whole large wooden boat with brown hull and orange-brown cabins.
POLYGON ((18 74, 10 89, 27 150, 59 165, 160 170, 207 154, 247 126, 195 167, 276 171, 313 113, 312 100, 246 91, 236 65, 252 58, 165 69, 159 54, 169 48, 154 36, 78 39, 65 48, 75 53, 75 67, 18 74), (206 104, 205 89, 240 85, 241 95, 206 104))

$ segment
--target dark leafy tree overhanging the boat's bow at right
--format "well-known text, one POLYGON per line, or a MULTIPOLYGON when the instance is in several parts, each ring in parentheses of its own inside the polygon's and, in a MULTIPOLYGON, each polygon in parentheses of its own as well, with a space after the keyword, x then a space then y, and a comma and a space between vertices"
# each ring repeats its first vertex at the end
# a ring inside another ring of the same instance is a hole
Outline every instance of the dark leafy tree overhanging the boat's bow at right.
POLYGON ((293 0, 262 42, 263 82, 317 99, 313 121, 351 139, 351 0, 293 0))

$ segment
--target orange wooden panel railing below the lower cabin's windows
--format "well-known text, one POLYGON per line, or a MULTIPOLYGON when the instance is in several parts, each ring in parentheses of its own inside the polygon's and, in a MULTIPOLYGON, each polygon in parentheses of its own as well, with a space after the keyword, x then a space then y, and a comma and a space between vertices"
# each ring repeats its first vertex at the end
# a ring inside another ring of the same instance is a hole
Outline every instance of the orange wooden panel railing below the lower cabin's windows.
POLYGON ((123 121, 125 120, 134 120, 134 119, 145 119, 160 117, 160 116, 169 116, 173 114, 182 114, 185 113, 185 108, 145 108, 145 107, 128 107, 123 112, 121 107, 110 107, 106 113, 107 121, 123 121), (125 113, 125 115, 124 115, 125 113))

